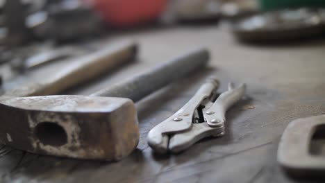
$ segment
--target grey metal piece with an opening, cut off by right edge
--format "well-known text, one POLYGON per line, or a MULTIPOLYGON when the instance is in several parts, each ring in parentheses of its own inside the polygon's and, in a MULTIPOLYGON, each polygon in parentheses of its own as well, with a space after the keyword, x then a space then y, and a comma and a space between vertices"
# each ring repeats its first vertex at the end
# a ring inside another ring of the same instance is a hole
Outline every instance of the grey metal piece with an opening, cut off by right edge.
POLYGON ((324 125, 325 115, 319 115, 296 119, 285 128, 278 145, 278 162, 288 173, 324 177, 324 125))

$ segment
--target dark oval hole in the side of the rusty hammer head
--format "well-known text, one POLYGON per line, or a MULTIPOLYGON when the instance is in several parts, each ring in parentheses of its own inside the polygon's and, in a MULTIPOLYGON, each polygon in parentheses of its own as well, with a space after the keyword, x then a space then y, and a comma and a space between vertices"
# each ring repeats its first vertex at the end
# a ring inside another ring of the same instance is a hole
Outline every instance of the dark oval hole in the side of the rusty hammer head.
POLYGON ((57 123, 38 123, 35 127, 35 136, 44 145, 63 146, 67 143, 67 133, 65 129, 57 123))

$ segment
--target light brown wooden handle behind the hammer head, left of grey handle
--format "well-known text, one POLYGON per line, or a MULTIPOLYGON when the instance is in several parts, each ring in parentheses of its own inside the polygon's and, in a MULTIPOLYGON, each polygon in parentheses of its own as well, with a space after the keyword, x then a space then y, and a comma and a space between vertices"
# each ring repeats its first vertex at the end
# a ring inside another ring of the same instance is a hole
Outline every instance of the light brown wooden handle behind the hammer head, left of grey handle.
POLYGON ((90 55, 76 59, 58 73, 43 82, 21 86, 6 92, 5 96, 43 96, 57 94, 114 69, 121 64, 135 60, 138 46, 133 42, 123 42, 108 46, 90 55))

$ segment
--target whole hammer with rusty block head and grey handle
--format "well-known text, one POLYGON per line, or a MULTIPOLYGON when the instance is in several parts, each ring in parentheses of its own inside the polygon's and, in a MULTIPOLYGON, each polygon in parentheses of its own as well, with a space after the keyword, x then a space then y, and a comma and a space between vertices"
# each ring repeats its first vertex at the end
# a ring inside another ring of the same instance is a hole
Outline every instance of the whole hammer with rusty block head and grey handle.
POLYGON ((206 49, 195 49, 90 96, 1 97, 0 141, 42 155, 122 159, 139 141, 133 101, 201 69, 208 58, 206 49))

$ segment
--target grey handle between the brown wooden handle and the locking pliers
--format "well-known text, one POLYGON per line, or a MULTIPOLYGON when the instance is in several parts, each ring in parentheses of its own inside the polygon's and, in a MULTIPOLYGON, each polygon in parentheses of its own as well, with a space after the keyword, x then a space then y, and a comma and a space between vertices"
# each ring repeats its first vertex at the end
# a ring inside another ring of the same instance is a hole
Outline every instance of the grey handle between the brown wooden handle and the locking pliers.
POLYGON ((206 49, 196 49, 164 62, 150 71, 102 89, 91 96, 124 97, 136 102, 169 82, 199 71, 206 66, 208 58, 209 53, 206 49))

